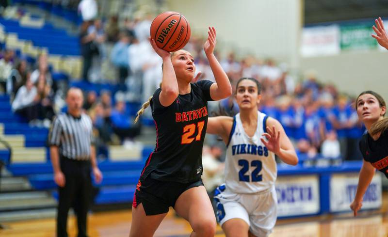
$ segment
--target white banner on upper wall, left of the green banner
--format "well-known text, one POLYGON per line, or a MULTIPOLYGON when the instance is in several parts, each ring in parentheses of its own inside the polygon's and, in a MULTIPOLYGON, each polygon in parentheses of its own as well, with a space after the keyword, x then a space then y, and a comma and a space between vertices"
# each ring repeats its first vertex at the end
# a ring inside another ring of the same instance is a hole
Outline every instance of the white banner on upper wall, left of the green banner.
POLYGON ((301 54, 303 57, 339 54, 338 25, 303 28, 301 54))

